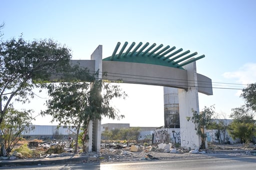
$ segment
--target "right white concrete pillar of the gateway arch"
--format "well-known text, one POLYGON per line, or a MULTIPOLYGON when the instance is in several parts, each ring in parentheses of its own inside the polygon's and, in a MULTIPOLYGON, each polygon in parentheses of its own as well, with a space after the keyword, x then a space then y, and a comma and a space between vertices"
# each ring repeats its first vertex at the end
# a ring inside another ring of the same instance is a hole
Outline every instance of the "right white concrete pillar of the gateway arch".
POLYGON ((199 113, 195 62, 185 65, 184 69, 187 70, 188 90, 178 89, 180 143, 186 149, 199 149, 200 137, 196 135, 194 124, 189 121, 192 117, 191 109, 199 113))

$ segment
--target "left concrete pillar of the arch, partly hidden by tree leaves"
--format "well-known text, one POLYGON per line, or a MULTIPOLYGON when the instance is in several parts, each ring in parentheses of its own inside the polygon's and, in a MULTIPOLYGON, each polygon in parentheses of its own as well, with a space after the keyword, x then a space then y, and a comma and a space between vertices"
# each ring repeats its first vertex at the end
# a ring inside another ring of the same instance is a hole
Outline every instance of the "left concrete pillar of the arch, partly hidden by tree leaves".
MULTIPOLYGON (((102 45, 98 45, 98 47, 94 50, 94 52, 90 56, 91 60, 95 60, 95 70, 99 70, 98 78, 102 78, 102 45)), ((100 150, 100 131, 101 131, 101 121, 94 120, 90 121, 88 127, 88 135, 89 140, 87 143, 88 152, 94 151, 99 152, 100 150)))

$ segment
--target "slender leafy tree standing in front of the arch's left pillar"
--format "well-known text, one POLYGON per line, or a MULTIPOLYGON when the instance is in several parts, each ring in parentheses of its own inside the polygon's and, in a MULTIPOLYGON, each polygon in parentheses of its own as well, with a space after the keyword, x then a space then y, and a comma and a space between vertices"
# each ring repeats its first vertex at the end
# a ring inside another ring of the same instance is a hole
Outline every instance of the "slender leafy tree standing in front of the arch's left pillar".
MULTIPOLYGON (((86 68, 74 69, 72 72, 74 75, 86 75, 86 78, 73 76, 71 82, 50 84, 48 95, 51 98, 46 102, 48 109, 42 114, 51 115, 52 121, 59 122, 59 125, 74 126, 77 132, 76 141, 81 128, 83 130, 82 148, 85 152, 89 121, 101 119, 101 116, 112 119, 122 118, 123 115, 118 115, 118 110, 110 106, 109 102, 115 97, 125 98, 126 94, 117 84, 109 84, 98 79, 98 72, 90 75, 86 68), (77 72, 79 74, 76 74, 77 72)), ((74 152, 76 149, 77 142, 74 152)))

